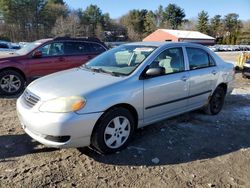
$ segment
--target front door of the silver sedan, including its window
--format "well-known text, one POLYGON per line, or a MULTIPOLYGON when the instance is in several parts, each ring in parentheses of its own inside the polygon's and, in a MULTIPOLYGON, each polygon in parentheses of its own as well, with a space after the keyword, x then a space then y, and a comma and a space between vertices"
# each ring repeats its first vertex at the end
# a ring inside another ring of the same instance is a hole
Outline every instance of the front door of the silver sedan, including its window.
POLYGON ((150 68, 164 67, 165 75, 144 80, 144 121, 146 124, 185 111, 188 72, 181 47, 163 51, 150 68))

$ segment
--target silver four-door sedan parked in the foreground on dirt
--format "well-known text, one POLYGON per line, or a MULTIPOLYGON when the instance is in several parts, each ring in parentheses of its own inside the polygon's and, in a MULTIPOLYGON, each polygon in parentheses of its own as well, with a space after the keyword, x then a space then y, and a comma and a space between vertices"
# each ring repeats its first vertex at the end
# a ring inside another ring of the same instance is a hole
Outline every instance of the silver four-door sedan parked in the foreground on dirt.
POLYGON ((218 114, 234 67, 191 43, 139 42, 31 83, 17 100, 24 131, 51 147, 125 148, 135 129, 203 108, 218 114))

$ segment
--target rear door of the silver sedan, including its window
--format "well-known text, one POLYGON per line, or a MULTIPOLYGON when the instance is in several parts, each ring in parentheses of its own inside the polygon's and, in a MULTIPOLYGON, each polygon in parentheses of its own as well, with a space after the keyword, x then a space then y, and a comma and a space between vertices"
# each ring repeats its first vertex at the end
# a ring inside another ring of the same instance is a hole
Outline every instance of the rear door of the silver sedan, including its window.
POLYGON ((205 104, 218 79, 213 58, 203 49, 186 47, 189 62, 189 108, 205 104))

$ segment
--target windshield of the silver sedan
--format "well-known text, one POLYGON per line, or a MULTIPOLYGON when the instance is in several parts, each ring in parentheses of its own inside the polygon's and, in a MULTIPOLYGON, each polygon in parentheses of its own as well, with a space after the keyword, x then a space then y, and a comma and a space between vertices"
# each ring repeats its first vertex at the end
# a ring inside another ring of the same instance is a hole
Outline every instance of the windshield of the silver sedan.
POLYGON ((131 74, 155 49, 155 46, 123 45, 97 56, 83 67, 125 76, 131 74))

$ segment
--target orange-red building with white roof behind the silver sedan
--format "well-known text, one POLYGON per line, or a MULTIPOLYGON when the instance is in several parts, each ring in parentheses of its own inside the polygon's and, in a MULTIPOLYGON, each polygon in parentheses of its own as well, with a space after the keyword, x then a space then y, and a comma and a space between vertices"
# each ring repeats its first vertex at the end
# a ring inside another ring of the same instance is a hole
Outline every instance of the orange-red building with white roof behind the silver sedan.
POLYGON ((143 41, 151 42, 193 42, 203 45, 214 45, 215 38, 205 35, 198 31, 184 31, 171 29, 158 29, 143 39, 143 41))

